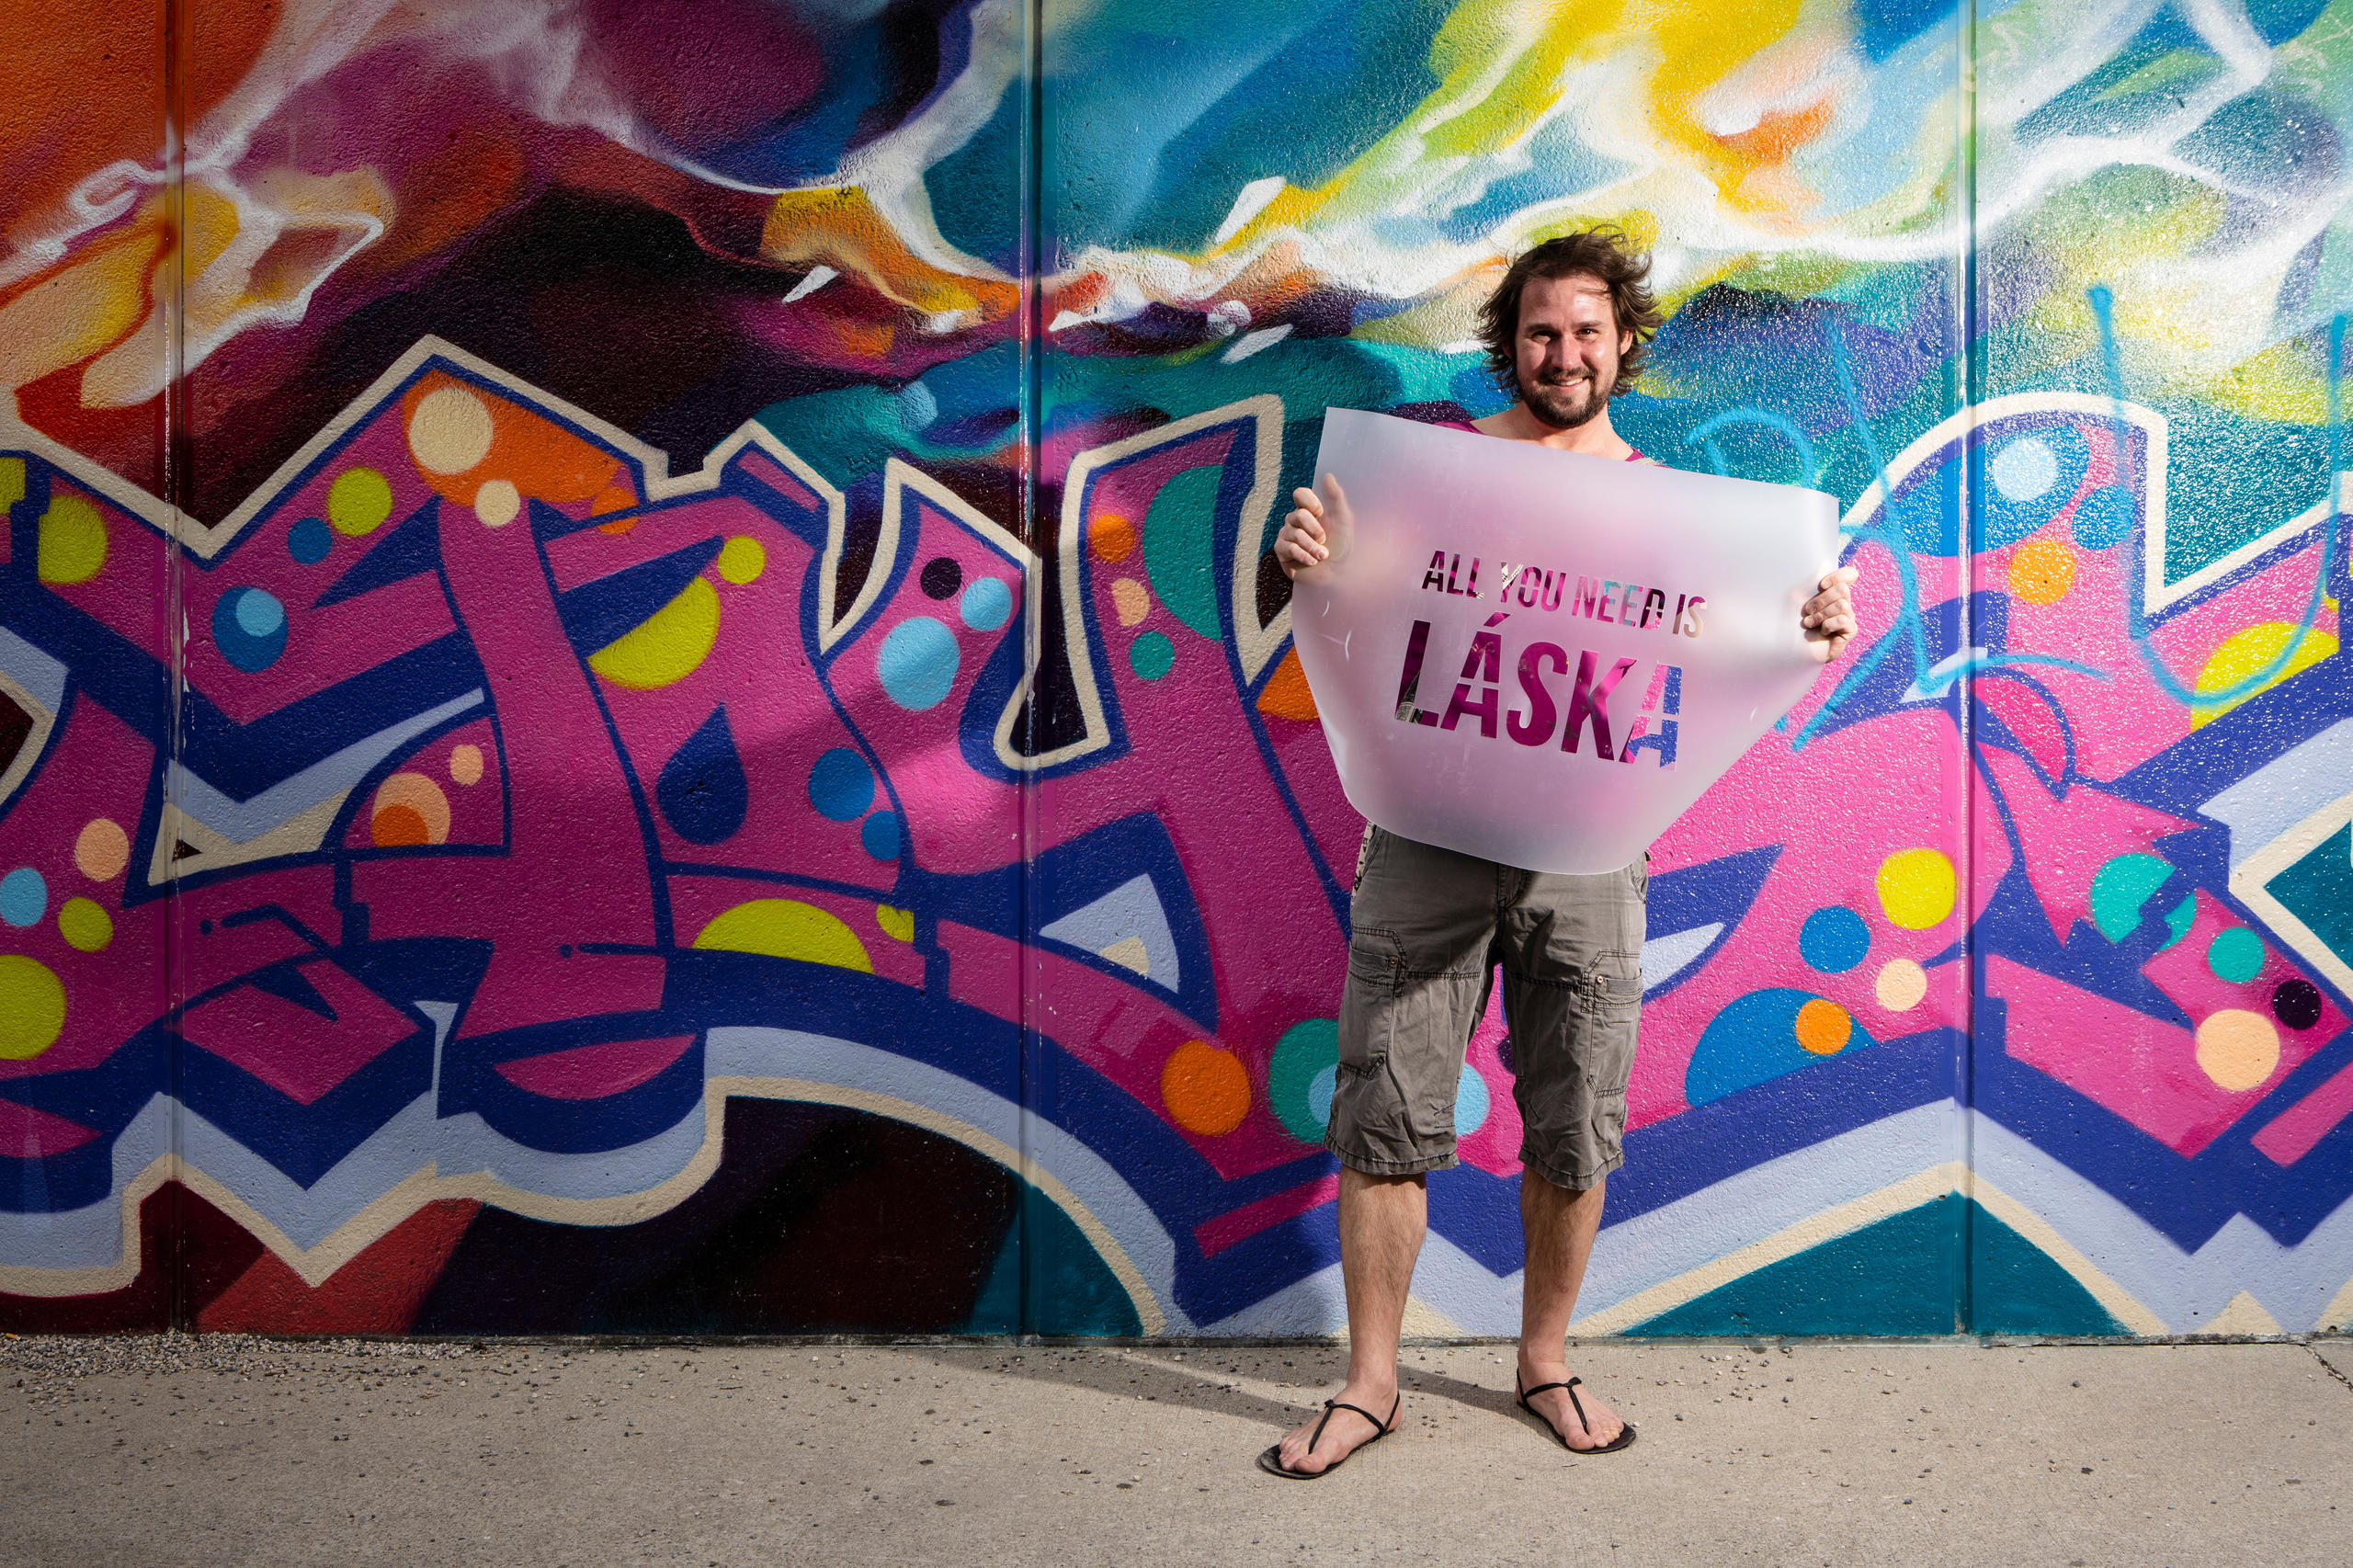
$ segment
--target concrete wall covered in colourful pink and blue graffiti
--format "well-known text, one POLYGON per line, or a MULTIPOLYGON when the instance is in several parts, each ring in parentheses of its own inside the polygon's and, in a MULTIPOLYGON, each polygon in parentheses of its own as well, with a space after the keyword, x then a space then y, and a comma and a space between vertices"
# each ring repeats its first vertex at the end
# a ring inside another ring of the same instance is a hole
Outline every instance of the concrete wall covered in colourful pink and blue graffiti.
POLYGON ((1591 219, 1866 636, 1657 845, 1584 1330, 2353 1316, 2348 0, 0 28, 0 1323, 1337 1326, 1261 546, 1591 219))

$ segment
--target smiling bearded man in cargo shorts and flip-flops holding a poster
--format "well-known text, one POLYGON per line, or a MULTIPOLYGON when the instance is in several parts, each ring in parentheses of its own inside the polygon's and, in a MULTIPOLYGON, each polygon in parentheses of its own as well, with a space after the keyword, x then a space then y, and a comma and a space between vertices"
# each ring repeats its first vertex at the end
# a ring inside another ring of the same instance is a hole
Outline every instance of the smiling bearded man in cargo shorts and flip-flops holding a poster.
MULTIPOLYGON (((1520 257, 1480 311, 1487 363, 1515 400, 1461 428, 1649 461, 1609 428, 1609 400, 1640 374, 1642 344, 1659 327, 1647 275, 1649 257, 1607 228, 1520 257)), ((1287 574, 1327 556, 1322 499, 1297 490, 1294 501, 1275 537, 1287 574)), ((1852 567, 1824 574, 1800 610, 1824 662, 1854 636, 1852 582, 1852 567)), ((1497 965, 1513 1099, 1527 1128, 1515 1391, 1565 1448, 1633 1443, 1633 1427, 1607 1401, 1579 1394, 1567 1330, 1600 1229, 1602 1184, 1624 1161, 1647 888, 1642 862, 1600 876, 1537 873, 1365 831, 1325 1137, 1341 1161, 1348 1382, 1315 1422, 1259 1455, 1271 1474, 1320 1476, 1398 1424, 1398 1335, 1428 1222, 1424 1172, 1454 1165, 1454 1083, 1497 965)))

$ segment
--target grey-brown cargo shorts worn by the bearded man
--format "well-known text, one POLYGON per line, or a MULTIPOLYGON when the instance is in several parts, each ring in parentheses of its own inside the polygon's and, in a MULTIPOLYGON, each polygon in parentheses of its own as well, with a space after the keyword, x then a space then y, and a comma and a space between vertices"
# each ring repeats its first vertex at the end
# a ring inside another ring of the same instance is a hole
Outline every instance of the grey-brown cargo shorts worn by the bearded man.
POLYGON ((1569 1189, 1617 1170, 1642 1015, 1647 862, 1520 871, 1365 829, 1325 1147, 1367 1175, 1454 1165, 1464 1050, 1501 970, 1520 1163, 1569 1189))

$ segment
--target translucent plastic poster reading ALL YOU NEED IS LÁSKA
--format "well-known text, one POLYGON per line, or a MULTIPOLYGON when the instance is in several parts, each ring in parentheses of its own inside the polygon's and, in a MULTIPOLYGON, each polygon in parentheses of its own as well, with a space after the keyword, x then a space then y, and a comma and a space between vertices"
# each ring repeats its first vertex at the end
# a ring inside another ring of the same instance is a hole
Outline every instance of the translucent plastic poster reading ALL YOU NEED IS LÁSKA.
POLYGON ((1332 410, 1292 633, 1351 805, 1529 871, 1642 855, 1812 687, 1831 497, 1332 410))

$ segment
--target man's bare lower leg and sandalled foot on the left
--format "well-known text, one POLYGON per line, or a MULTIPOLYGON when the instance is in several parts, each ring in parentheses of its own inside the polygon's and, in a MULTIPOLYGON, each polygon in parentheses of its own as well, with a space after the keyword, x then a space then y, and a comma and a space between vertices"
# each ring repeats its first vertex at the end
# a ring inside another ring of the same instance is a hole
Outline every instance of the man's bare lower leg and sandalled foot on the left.
MULTIPOLYGON (((1339 1401, 1388 1420, 1398 1403, 1398 1335, 1405 1330, 1405 1293, 1414 1283, 1414 1260, 1431 1222, 1431 1196, 1421 1177, 1374 1177, 1339 1172, 1339 1276, 1348 1288, 1348 1382, 1339 1401)), ((1315 1422, 1325 1417, 1315 1413, 1315 1422)), ((1329 1469, 1374 1434, 1372 1422, 1332 1410, 1315 1453, 1315 1422, 1282 1434, 1287 1469, 1329 1469)))

